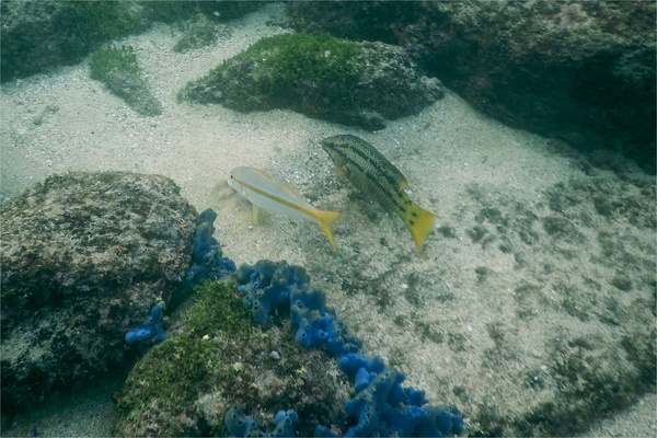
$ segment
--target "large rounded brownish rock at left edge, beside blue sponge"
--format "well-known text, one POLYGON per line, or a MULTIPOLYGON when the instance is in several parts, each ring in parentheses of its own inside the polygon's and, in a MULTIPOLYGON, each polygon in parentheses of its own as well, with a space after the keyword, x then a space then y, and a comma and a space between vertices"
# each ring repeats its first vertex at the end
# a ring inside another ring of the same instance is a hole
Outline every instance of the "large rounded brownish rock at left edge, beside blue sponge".
POLYGON ((163 176, 68 173, 4 204, 0 219, 7 413, 120 362, 126 332, 171 300, 196 211, 163 176))

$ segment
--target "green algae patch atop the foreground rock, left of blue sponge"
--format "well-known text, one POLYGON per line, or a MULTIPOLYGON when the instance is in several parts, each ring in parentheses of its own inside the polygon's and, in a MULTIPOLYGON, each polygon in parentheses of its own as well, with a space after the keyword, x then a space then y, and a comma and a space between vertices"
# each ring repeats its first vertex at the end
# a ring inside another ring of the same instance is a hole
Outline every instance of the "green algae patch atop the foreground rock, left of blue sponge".
POLYGON ((240 373, 241 367, 231 359, 237 357, 232 349, 257 337, 257 331, 235 285, 206 283, 195 292, 182 315, 181 335, 151 348, 116 394, 117 407, 124 414, 116 424, 122 435, 142 435, 149 427, 154 427, 157 435, 192 433, 161 413, 193 411, 200 393, 211 393, 240 373), (152 424, 138 428, 145 418, 151 418, 152 424))

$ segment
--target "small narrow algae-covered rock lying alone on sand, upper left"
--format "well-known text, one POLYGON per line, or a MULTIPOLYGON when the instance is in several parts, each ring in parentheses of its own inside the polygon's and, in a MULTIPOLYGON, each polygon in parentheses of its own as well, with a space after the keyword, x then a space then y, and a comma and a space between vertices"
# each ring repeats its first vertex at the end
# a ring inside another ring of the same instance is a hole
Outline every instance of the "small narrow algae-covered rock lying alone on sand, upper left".
POLYGON ((91 56, 89 70, 91 79, 103 82, 142 116, 162 114, 162 104, 141 76, 137 55, 131 46, 111 46, 95 51, 91 56))

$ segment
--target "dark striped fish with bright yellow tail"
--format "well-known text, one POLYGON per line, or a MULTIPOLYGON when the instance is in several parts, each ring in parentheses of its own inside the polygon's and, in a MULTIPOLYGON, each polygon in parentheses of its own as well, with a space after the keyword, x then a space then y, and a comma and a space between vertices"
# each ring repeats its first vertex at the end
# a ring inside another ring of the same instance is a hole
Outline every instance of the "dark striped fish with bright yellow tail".
POLYGON ((388 214, 402 219, 422 254, 438 216, 411 200, 406 194, 408 182, 402 172, 373 146, 356 136, 333 136, 321 143, 337 166, 338 175, 348 176, 356 188, 377 199, 388 214))

